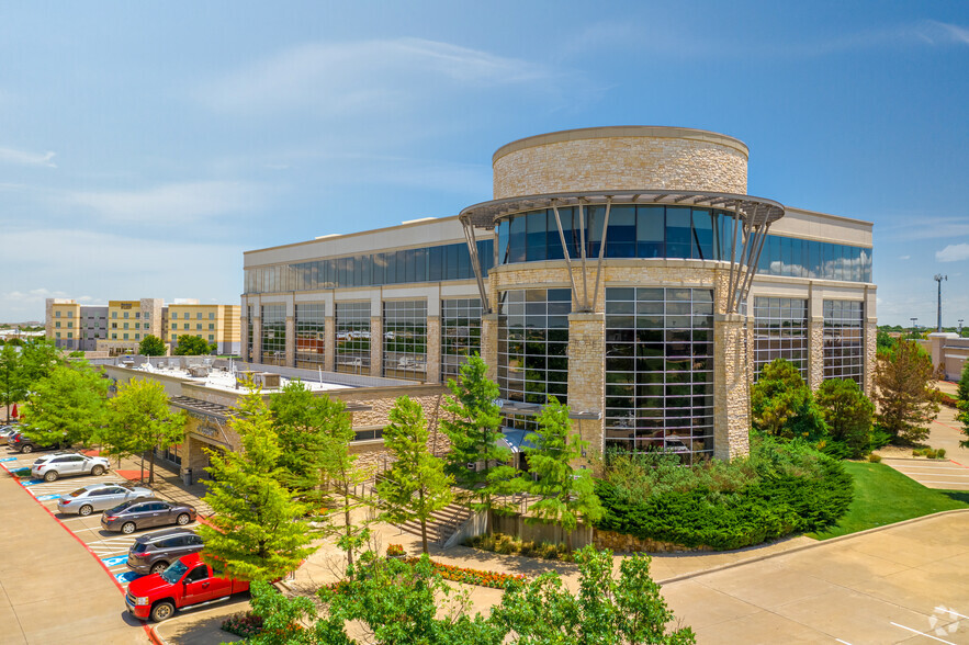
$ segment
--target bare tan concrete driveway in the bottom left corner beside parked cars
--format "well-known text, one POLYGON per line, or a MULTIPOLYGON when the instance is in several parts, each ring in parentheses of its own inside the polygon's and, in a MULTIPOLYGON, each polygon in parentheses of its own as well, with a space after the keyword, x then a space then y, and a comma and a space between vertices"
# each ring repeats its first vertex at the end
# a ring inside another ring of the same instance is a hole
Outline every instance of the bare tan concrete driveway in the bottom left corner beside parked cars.
POLYGON ((150 643, 113 578, 5 471, 0 527, 0 643, 150 643))

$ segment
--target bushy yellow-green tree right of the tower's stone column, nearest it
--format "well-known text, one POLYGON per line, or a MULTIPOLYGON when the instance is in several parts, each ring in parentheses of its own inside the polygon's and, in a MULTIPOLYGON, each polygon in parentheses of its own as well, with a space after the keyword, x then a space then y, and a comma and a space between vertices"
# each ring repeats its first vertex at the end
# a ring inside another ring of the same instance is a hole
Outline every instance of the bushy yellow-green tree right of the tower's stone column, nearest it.
POLYGON ((753 426, 777 437, 814 440, 826 431, 811 388, 790 361, 777 359, 760 371, 751 388, 753 426))

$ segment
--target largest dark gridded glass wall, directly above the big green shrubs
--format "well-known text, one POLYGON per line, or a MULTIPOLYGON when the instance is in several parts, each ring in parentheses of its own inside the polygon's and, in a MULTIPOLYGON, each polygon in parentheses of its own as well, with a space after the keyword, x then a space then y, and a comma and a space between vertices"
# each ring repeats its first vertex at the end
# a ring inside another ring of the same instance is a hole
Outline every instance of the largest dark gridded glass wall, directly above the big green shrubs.
POLYGON ((606 449, 713 452, 713 292, 606 290, 606 449))

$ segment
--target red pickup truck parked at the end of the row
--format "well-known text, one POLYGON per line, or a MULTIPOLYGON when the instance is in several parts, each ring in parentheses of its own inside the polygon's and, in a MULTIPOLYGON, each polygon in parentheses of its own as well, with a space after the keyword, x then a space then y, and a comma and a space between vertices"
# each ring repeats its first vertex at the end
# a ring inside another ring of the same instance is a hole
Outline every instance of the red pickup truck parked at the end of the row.
POLYGON ((150 618, 158 623, 183 607, 224 600, 248 589, 249 582, 216 578, 212 567, 203 563, 198 553, 192 553, 160 574, 132 580, 124 602, 135 618, 143 621, 150 618))

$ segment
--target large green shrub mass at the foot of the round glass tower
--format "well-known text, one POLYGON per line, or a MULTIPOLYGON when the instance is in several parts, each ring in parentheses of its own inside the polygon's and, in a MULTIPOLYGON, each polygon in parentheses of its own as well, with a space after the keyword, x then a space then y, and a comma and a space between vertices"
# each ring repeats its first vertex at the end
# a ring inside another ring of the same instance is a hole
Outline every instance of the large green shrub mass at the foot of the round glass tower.
POLYGON ((746 459, 681 466, 676 476, 662 459, 638 472, 633 459, 612 460, 620 469, 610 469, 607 460, 596 487, 606 516, 596 525, 687 547, 732 550, 822 529, 847 510, 852 478, 837 461, 799 440, 754 438, 752 448, 746 459))

